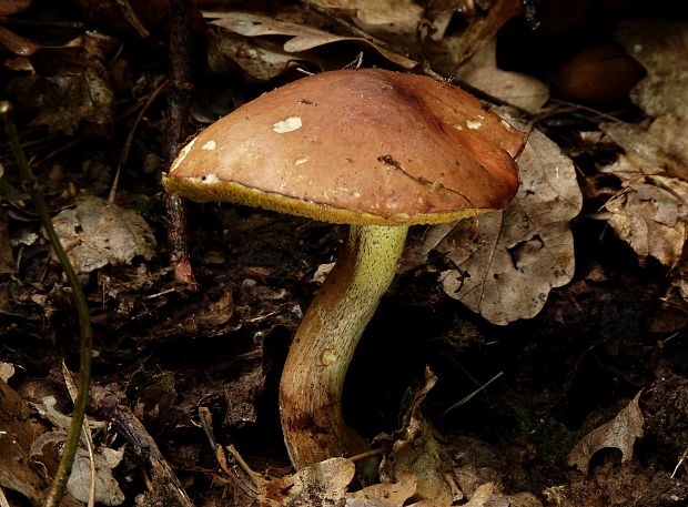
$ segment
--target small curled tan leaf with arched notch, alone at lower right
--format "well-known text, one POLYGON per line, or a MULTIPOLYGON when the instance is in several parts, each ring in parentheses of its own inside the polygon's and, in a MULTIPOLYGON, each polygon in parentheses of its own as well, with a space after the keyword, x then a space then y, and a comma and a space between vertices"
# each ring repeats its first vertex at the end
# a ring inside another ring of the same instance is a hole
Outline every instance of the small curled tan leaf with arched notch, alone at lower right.
POLYGON ((608 423, 603 424, 588 433, 574 446, 568 455, 568 465, 577 467, 587 474, 593 455, 599 449, 611 447, 621 452, 621 462, 633 457, 633 447, 636 439, 643 437, 645 418, 638 405, 640 395, 636 397, 608 423))

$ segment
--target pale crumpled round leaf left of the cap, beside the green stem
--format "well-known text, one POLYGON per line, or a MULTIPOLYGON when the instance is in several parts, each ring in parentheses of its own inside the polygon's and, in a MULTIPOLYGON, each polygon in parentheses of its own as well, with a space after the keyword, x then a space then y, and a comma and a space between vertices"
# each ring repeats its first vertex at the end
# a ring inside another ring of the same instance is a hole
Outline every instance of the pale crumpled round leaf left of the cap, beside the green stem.
POLYGON ((145 221, 99 197, 79 197, 53 219, 53 225, 78 273, 155 254, 155 237, 145 221))

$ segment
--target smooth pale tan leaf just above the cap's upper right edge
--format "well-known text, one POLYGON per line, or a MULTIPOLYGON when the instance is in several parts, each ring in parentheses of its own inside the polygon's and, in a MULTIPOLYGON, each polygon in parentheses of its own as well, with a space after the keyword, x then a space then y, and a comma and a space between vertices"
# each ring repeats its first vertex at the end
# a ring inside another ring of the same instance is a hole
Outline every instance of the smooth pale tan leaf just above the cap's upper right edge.
POLYGON ((456 78, 504 102, 536 114, 549 100, 549 88, 530 75, 497 67, 497 39, 487 42, 456 78))

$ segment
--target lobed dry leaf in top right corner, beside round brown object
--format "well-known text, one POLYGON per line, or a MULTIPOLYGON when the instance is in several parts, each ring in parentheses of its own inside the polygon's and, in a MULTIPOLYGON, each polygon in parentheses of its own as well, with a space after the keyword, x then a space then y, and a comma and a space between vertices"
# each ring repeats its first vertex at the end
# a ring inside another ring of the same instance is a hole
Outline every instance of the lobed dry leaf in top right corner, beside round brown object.
POLYGON ((650 116, 688 118, 688 23, 647 20, 623 23, 615 34, 647 77, 631 100, 650 116))

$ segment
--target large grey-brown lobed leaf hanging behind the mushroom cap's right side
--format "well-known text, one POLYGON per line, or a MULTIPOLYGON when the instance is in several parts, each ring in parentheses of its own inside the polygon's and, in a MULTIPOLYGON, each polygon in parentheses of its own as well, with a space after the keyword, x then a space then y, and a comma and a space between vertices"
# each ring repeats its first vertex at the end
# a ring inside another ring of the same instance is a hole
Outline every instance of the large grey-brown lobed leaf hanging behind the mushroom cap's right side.
POLYGON ((500 325, 535 316, 570 281, 569 221, 583 204, 573 162, 543 133, 533 131, 518 165, 520 189, 506 210, 435 229, 423 247, 455 263, 441 274, 445 292, 500 325))

